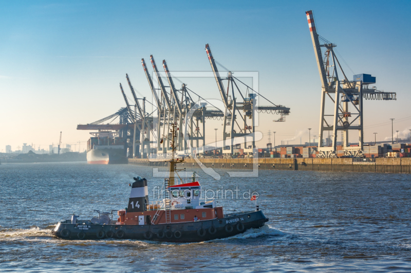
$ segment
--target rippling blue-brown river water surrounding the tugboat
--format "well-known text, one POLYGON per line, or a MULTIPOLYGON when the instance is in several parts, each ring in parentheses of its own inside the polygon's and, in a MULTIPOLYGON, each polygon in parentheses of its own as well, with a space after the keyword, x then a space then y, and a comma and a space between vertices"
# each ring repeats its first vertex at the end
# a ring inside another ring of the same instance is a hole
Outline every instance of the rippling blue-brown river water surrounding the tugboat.
POLYGON ((136 165, 0 165, 0 271, 411 271, 409 175, 259 171, 258 177, 234 178, 216 170, 216 181, 195 171, 203 188, 237 190, 238 198, 219 195, 225 212, 253 209, 250 190, 270 221, 203 243, 62 240, 51 235, 59 220, 124 208, 128 183, 137 175, 147 179, 154 201, 153 188, 163 178, 136 165))

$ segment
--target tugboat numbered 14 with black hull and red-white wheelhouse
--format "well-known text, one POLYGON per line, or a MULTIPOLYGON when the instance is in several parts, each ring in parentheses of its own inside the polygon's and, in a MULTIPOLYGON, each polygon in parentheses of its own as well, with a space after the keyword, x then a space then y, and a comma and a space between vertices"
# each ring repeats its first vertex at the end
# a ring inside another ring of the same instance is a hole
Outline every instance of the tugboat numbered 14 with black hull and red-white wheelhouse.
POLYGON ((135 177, 133 184, 129 184, 132 189, 128 206, 117 211, 117 220, 113 220, 115 211, 95 211, 99 217, 91 220, 79 220, 79 216, 72 215, 70 220, 59 222, 53 234, 72 240, 117 238, 190 243, 231 237, 268 222, 258 206, 254 211, 224 214, 215 200, 200 200, 201 185, 196 174, 188 183, 178 175, 182 170, 177 170, 177 164, 184 160, 174 157, 175 127, 173 124, 170 176, 164 179, 162 201, 149 202, 147 180, 135 177))

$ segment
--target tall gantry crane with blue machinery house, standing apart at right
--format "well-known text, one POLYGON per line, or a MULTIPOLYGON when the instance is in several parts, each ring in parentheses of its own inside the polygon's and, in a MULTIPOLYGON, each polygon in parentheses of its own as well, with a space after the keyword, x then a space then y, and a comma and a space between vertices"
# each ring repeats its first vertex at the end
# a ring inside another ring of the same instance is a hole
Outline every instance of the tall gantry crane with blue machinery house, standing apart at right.
POLYGON ((376 83, 376 77, 371 77, 368 74, 353 75, 353 80, 348 80, 334 52, 334 48, 337 45, 330 43, 317 34, 311 10, 306 12, 306 16, 321 80, 319 153, 317 157, 337 157, 338 132, 341 132, 343 135, 342 155, 363 157, 363 99, 396 100, 397 94, 395 92, 379 91, 376 87, 369 88, 369 85, 376 83), (320 39, 324 44, 320 44, 320 39), (322 49, 324 49, 324 53, 322 49), (341 72, 340 75, 339 72, 341 72), (327 97, 332 101, 332 114, 325 113, 327 97), (349 146, 349 130, 357 130, 359 132, 358 146, 349 146), (332 131, 331 146, 324 145, 325 131, 332 131))

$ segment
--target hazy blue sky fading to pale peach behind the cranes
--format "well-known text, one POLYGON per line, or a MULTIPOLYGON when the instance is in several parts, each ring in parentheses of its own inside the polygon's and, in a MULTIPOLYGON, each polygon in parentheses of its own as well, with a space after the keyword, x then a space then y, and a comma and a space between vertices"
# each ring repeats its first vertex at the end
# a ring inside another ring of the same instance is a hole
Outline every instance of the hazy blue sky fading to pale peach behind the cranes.
MULTIPOLYGON (((171 71, 210 71, 206 43, 230 70, 258 72, 259 92, 291 108, 286 122, 272 122, 278 116, 266 114, 256 130, 276 131, 276 144, 293 136, 294 143, 300 137, 308 141, 307 128, 318 135, 321 83, 307 10, 355 74, 376 76, 379 90, 397 92, 397 101, 364 102, 365 140, 373 140, 375 132, 377 140, 390 137, 389 118, 396 118, 399 137, 409 136, 410 6, 409 1, 2 1, 0 151, 22 143, 48 149, 60 131, 63 143, 86 141, 88 132, 77 131, 77 124, 124 107, 119 82, 126 86, 125 73, 150 96, 142 57, 149 62, 153 54, 158 65, 166 59, 171 71)), ((219 98, 215 80, 192 81, 189 87, 219 98)), ((206 123, 210 142, 220 123, 206 123)), ((350 141, 358 139, 351 135, 350 141)))

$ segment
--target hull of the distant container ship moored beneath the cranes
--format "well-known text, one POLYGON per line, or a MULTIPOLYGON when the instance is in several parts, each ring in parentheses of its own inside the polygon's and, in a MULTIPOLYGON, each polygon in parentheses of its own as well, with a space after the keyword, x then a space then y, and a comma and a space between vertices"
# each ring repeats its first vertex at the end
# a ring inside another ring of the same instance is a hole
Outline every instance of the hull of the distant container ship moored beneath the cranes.
POLYGON ((127 164, 123 148, 92 149, 87 152, 89 164, 127 164))

